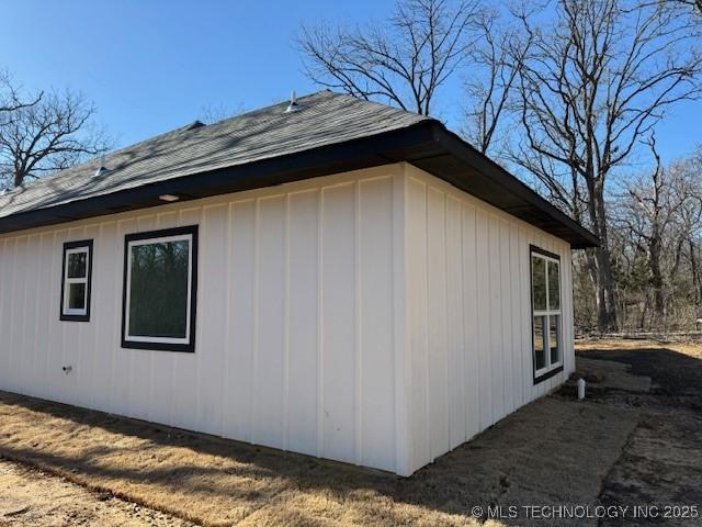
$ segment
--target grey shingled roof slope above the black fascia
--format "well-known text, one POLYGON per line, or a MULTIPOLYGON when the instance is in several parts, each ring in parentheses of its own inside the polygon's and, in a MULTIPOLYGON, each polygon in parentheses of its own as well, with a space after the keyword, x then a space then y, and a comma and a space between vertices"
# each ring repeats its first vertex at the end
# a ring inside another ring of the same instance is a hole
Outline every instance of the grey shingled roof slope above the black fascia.
POLYGON ((405 128, 428 117, 320 91, 207 125, 183 126, 0 195, 0 218, 147 183, 405 128))

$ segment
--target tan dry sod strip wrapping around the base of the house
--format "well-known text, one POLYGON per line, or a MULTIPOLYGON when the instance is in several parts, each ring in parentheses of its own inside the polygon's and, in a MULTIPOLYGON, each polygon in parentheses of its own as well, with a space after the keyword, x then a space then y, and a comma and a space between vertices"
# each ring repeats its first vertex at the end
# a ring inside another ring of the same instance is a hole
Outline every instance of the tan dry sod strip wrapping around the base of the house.
POLYGON ((401 479, 0 392, 0 455, 206 526, 457 526, 474 505, 596 503, 637 419, 546 397, 401 479))

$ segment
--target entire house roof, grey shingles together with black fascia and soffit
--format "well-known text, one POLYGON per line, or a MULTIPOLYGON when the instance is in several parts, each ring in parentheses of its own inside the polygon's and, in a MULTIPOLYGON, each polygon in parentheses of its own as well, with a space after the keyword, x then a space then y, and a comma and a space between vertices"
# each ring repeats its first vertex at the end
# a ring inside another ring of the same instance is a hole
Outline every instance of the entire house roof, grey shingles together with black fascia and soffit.
POLYGON ((320 91, 206 126, 196 123, 0 195, 0 233, 239 192, 396 161, 591 247, 597 237, 439 121, 320 91))

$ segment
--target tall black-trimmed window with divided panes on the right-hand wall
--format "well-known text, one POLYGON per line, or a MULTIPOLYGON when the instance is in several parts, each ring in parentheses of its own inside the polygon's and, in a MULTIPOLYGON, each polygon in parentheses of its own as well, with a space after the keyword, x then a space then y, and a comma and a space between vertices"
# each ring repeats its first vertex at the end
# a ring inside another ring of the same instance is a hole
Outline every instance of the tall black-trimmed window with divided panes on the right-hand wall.
POLYGON ((534 383, 563 370, 561 339, 561 260, 531 247, 531 300, 534 383))

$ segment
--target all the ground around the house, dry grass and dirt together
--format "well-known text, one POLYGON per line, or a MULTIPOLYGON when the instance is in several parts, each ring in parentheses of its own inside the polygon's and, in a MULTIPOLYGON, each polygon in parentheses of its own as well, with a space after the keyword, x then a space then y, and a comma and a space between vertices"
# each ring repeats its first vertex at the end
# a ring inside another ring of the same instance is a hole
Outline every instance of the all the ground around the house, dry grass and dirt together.
POLYGON ((569 383, 408 479, 0 392, 0 527, 646 525, 509 507, 701 505, 701 358, 582 344, 586 402, 569 383))

